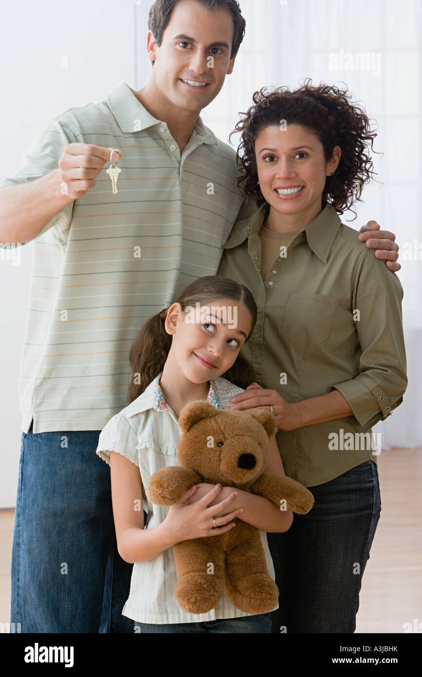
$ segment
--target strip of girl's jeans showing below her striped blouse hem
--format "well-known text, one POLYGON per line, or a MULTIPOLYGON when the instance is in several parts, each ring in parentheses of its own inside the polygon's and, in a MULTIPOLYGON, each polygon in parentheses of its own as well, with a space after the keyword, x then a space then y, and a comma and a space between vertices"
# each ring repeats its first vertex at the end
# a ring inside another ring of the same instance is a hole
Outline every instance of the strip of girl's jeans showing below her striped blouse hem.
POLYGON ((201 621, 199 623, 169 623, 167 625, 154 625, 152 623, 135 623, 135 632, 264 632, 271 633, 271 614, 257 613, 240 618, 224 618, 217 621, 201 621))

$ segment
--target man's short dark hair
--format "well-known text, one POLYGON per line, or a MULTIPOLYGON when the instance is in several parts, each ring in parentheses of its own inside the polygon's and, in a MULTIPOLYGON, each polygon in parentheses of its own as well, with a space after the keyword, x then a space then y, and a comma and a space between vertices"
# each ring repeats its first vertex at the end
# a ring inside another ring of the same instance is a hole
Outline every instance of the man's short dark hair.
MULTIPOLYGON (((216 9, 228 9, 228 12, 232 15, 234 23, 234 36, 232 44, 232 53, 230 54, 230 59, 236 56, 240 44, 242 43, 243 37, 245 36, 245 19, 242 17, 240 12, 239 3, 236 0, 195 0, 201 5, 204 5, 211 12, 216 9)), ((148 17, 148 28, 152 31, 155 41, 159 47, 163 42, 163 33, 167 28, 170 19, 171 13, 173 12, 174 7, 177 3, 182 2, 182 0, 156 0, 150 9, 150 15, 148 17)))

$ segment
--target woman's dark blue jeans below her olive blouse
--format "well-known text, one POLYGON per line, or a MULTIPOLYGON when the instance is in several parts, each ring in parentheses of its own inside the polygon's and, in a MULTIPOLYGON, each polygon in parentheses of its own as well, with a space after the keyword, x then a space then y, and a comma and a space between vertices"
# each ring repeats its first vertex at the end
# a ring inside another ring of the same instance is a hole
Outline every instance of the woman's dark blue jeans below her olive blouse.
POLYGON ((381 512, 377 466, 365 461, 308 488, 315 498, 308 515, 267 535, 280 590, 272 632, 352 633, 381 512))

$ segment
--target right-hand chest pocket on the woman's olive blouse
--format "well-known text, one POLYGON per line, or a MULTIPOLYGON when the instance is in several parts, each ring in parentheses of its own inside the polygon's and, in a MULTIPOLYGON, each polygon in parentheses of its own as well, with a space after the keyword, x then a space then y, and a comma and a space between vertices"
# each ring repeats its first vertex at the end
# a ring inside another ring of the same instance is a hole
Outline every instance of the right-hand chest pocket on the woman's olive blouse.
POLYGON ((291 292, 282 315, 280 333, 297 345, 316 345, 329 338, 337 297, 291 292))

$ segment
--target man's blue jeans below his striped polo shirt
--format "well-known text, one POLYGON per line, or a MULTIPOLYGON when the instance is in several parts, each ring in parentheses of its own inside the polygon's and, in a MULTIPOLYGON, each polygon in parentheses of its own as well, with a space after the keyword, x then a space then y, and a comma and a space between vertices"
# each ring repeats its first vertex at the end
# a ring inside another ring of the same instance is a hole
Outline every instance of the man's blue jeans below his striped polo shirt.
POLYGON ((133 565, 117 552, 99 435, 22 433, 10 617, 21 632, 133 634, 121 615, 133 565))

